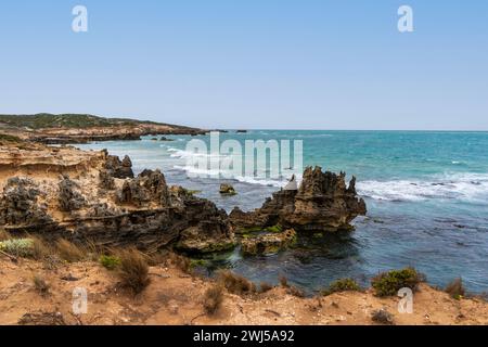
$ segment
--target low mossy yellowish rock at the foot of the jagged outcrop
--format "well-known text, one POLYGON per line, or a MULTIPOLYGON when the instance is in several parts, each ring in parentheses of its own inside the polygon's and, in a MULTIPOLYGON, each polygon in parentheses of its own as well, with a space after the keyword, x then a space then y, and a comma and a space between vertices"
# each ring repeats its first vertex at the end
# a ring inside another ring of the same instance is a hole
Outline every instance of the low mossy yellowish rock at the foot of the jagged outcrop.
POLYGON ((266 233, 241 241, 242 252, 247 255, 277 253, 293 244, 296 240, 296 231, 287 229, 277 233, 266 233))

